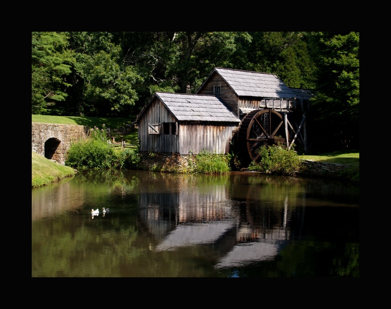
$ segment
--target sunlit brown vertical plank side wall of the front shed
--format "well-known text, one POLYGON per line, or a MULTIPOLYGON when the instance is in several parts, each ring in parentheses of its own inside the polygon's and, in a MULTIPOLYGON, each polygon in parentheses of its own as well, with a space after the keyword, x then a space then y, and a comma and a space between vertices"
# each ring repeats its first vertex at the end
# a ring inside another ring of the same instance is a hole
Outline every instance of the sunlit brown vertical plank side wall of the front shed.
POLYGON ((189 152, 199 154, 203 150, 217 154, 228 154, 233 132, 238 126, 233 123, 221 124, 180 124, 179 153, 188 155, 189 152))

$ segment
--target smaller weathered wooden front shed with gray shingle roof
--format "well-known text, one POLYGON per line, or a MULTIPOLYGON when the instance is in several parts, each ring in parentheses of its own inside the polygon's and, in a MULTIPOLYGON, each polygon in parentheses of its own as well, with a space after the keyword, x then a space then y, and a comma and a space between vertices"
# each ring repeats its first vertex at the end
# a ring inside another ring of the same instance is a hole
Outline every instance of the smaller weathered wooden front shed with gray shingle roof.
POLYGON ((228 154, 240 119, 214 95, 155 92, 136 119, 140 152, 228 154))

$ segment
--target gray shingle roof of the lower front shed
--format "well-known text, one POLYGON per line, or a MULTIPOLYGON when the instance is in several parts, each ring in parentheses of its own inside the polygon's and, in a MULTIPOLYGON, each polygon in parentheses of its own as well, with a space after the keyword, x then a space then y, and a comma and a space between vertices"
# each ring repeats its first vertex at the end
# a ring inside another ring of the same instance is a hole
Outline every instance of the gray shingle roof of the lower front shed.
POLYGON ((179 121, 240 122, 240 119, 213 95, 169 92, 155 94, 179 121))

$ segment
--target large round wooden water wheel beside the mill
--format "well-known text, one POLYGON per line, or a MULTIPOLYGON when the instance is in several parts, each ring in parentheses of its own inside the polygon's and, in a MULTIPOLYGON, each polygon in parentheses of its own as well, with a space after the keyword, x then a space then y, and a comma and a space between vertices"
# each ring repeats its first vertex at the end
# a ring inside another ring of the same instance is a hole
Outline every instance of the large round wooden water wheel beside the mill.
POLYGON ((239 152, 242 160, 259 162, 257 150, 262 145, 284 143, 282 114, 276 110, 252 110, 243 117, 239 127, 239 152))

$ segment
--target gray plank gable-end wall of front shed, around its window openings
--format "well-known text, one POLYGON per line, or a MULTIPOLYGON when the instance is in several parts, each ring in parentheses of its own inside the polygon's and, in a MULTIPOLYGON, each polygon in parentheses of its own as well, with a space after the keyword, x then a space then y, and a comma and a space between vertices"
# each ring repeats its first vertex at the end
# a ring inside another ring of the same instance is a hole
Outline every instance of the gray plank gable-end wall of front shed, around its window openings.
POLYGON ((149 123, 177 122, 173 114, 157 98, 143 113, 138 123, 140 151, 164 153, 179 152, 179 138, 176 134, 148 134, 149 123))

